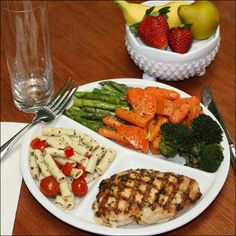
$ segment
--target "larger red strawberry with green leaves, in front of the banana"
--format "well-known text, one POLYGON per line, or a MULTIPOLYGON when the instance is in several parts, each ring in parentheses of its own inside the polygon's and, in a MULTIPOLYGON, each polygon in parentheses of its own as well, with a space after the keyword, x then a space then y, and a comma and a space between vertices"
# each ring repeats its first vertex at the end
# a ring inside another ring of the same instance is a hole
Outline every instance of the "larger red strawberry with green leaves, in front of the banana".
POLYGON ((146 15, 139 23, 138 34, 144 43, 159 49, 168 46, 169 25, 165 16, 167 12, 169 7, 162 8, 158 11, 158 15, 156 13, 146 15))

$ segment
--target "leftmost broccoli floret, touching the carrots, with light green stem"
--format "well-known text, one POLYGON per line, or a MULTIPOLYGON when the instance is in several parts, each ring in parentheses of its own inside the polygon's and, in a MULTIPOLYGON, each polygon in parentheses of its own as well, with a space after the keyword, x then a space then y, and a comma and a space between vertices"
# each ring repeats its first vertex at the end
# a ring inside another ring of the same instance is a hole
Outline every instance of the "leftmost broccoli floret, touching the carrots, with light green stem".
POLYGON ((165 123, 161 126, 161 135, 160 151, 166 157, 189 151, 193 145, 191 130, 183 124, 165 123))

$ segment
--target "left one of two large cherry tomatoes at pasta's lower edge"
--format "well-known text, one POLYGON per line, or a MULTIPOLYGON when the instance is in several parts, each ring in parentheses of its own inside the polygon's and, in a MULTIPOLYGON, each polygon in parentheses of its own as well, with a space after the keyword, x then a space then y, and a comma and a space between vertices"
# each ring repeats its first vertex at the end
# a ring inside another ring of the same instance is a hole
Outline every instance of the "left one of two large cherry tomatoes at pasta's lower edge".
POLYGON ((40 190, 46 197, 56 197, 60 187, 56 179, 50 175, 40 181, 40 190))

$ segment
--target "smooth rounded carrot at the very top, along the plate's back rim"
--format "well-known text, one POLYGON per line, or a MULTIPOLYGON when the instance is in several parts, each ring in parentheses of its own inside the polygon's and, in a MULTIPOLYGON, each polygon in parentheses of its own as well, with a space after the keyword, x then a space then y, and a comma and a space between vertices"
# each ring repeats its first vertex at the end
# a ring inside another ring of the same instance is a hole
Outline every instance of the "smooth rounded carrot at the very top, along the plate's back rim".
POLYGON ((151 93, 152 95, 154 95, 155 98, 161 97, 161 98, 165 98, 165 99, 168 99, 171 101, 180 98, 179 93, 177 93, 174 90, 170 90, 170 89, 148 86, 145 88, 145 90, 148 91, 149 93, 151 93))

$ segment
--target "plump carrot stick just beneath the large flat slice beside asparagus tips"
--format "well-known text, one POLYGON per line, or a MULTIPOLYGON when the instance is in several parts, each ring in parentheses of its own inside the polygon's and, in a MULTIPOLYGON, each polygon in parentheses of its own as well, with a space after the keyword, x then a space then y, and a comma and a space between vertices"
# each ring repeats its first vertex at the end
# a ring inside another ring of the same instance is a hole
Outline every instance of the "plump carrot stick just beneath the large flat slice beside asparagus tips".
POLYGON ((117 107, 115 113, 118 118, 128 121, 131 124, 134 124, 142 128, 147 126, 148 119, 140 116, 135 112, 128 111, 122 107, 117 107))

